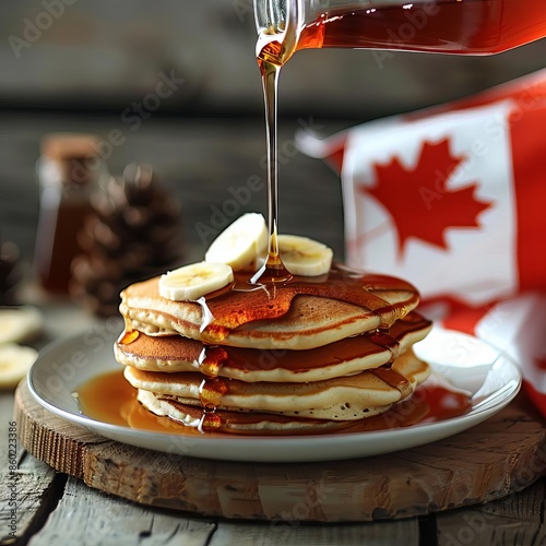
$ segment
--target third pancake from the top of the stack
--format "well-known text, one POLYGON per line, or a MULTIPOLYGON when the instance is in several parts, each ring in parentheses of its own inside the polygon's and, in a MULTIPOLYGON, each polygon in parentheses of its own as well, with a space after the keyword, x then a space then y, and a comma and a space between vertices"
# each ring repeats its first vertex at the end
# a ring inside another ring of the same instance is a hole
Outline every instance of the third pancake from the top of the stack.
POLYGON ((407 397, 429 376, 412 349, 392 366, 307 383, 206 379, 198 372, 161 373, 126 367, 126 379, 139 390, 187 405, 241 412, 265 412, 329 420, 356 420, 370 408, 388 408, 407 397))

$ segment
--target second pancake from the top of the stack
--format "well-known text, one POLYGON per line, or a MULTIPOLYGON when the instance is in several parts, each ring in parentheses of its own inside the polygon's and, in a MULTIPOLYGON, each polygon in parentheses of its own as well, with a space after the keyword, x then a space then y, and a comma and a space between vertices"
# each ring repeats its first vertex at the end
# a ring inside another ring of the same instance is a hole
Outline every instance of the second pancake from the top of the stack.
POLYGON ((249 382, 307 382, 378 368, 423 340, 430 329, 430 321, 412 311, 389 334, 361 334, 305 352, 206 346, 180 335, 140 334, 130 343, 118 340, 115 354, 120 364, 145 371, 201 371, 249 382))

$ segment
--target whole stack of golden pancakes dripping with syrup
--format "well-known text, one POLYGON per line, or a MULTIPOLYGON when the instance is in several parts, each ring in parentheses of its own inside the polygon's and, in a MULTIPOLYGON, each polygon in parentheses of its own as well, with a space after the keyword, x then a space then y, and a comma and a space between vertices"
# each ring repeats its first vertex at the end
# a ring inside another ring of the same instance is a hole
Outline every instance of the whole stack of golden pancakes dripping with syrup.
POLYGON ((233 286, 198 301, 122 292, 115 345, 151 412, 202 431, 299 434, 354 425, 407 399, 429 375, 412 345, 431 323, 417 290, 333 266, 320 282, 233 286))

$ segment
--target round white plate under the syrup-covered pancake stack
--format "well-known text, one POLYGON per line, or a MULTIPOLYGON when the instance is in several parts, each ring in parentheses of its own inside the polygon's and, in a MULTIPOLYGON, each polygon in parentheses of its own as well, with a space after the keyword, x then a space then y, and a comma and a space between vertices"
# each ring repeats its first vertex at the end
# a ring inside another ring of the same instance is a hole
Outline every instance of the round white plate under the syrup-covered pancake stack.
MULTIPOLYGON (((100 329, 103 328, 103 330, 100 329)), ((518 393, 521 375, 513 361, 486 343, 459 332, 434 329, 415 351, 437 376, 472 393, 472 410, 441 422, 369 432, 301 437, 211 437, 150 432, 102 423, 79 411, 72 392, 116 369, 111 328, 60 341, 46 348, 28 373, 34 397, 50 412, 112 440, 167 453, 252 462, 302 462, 390 453, 440 440, 484 422, 518 393), (110 330, 110 331, 109 331, 110 330)))

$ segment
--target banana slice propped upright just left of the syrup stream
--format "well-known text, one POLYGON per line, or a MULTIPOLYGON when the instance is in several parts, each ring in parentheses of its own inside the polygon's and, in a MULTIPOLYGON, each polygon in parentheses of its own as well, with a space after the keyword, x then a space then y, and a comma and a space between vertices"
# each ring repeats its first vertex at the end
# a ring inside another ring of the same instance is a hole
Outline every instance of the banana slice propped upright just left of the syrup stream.
POLYGON ((234 271, 258 271, 268 253, 268 226, 259 213, 247 213, 222 232, 205 253, 206 262, 227 263, 234 271))

